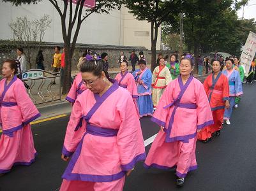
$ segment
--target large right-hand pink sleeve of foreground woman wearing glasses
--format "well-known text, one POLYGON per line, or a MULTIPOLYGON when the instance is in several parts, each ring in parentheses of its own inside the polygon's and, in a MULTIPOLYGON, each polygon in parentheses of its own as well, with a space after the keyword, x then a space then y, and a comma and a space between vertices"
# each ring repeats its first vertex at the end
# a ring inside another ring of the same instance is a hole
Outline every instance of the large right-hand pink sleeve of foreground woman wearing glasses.
POLYGON ((139 118, 134 117, 136 109, 130 95, 126 95, 122 103, 117 105, 117 110, 121 117, 121 125, 117 134, 117 147, 121 167, 123 171, 128 171, 135 166, 136 162, 146 159, 144 141, 139 118))

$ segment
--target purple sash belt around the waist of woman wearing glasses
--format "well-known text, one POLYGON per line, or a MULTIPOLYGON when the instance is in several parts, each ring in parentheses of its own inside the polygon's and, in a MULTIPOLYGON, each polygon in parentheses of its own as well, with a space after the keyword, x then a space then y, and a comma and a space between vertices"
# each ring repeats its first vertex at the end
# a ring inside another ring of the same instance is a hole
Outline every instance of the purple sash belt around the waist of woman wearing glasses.
POLYGON ((86 125, 86 133, 100 137, 115 137, 117 136, 118 129, 109 129, 97 127, 91 124, 86 125))

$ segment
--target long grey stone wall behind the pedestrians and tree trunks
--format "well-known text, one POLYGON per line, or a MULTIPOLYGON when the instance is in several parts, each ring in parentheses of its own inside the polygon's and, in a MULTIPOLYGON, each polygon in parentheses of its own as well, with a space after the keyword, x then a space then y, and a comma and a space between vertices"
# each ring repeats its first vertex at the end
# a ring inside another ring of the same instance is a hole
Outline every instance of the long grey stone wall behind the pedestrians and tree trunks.
MULTIPOLYGON (((31 43, 29 44, 29 50, 31 51, 31 69, 36 67, 36 55, 39 49, 43 50, 43 57, 44 57, 44 66, 46 70, 51 69, 52 64, 52 57, 54 55, 54 47, 61 46, 63 47, 63 43, 42 43, 39 45, 38 43, 31 43)), ((6 59, 17 59, 17 47, 18 45, 14 45, 12 41, 0 41, 0 64, 3 63, 6 59)), ((24 48, 24 52, 28 52, 26 47, 24 48)), ((145 47, 142 46, 109 46, 109 45, 87 45, 87 44, 77 44, 75 52, 73 53, 72 58, 72 70, 77 70, 77 62, 79 58, 82 56, 82 53, 86 49, 91 49, 94 52, 102 53, 107 52, 109 54, 109 64, 110 68, 119 67, 117 60, 119 59, 120 52, 123 51, 126 57, 130 57, 132 50, 135 50, 137 55, 139 56, 139 52, 143 51, 144 55, 146 56, 147 64, 151 64, 151 50, 147 50, 145 47)), ((163 56, 170 55, 173 52, 170 51, 156 51, 156 59, 158 58, 158 53, 162 53, 163 56)), ((168 60, 169 61, 169 60, 168 60)), ((29 69, 29 66, 27 66, 29 69)))

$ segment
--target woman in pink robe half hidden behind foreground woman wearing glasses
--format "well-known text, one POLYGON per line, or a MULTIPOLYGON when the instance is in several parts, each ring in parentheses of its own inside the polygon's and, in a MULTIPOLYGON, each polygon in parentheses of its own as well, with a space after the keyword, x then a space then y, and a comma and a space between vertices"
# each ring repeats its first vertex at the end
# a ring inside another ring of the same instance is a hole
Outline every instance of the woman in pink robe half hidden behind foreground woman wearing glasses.
POLYGON ((120 64, 121 73, 116 75, 115 80, 118 82, 119 86, 126 88, 128 92, 132 95, 133 103, 135 104, 138 117, 140 118, 139 108, 137 106, 137 86, 133 77, 133 74, 128 72, 128 62, 123 61, 120 64))

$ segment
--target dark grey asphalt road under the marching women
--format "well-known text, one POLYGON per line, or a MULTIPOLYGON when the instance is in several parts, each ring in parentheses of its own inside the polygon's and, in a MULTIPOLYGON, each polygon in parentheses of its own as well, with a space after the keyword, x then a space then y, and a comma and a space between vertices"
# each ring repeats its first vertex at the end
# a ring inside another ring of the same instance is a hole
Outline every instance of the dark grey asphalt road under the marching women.
MULTIPOLYGON (((137 164, 126 178, 124 191, 164 190, 256 190, 256 83, 244 85, 239 108, 234 110, 231 125, 224 125, 220 137, 207 144, 197 143, 197 164, 177 188, 174 170, 144 169, 137 164)), ((29 167, 16 166, 0 178, 0 190, 58 190, 66 162, 61 148, 68 117, 32 126, 39 155, 29 167)), ((150 118, 142 118, 144 140, 158 132, 150 118)), ((151 145, 146 146, 148 152, 151 145)))

